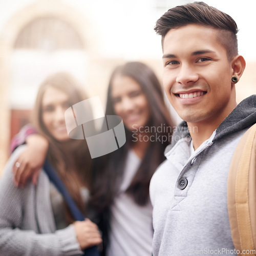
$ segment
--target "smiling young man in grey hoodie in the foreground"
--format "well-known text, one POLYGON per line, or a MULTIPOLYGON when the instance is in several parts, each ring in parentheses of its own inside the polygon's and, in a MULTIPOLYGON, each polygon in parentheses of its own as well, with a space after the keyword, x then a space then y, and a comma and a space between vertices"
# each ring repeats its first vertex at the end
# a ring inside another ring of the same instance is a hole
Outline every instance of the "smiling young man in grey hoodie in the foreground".
POLYGON ((236 103, 245 69, 234 20, 195 2, 158 21, 163 85, 184 120, 151 180, 153 255, 234 255, 227 176, 234 150, 256 121, 256 96, 236 103))

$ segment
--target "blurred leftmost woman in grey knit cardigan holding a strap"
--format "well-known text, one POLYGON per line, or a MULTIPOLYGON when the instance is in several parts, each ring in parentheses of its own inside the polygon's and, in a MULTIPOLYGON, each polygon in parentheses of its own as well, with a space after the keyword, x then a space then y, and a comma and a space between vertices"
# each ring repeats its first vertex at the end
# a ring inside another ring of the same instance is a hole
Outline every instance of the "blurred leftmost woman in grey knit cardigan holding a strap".
MULTIPOLYGON (((49 162, 79 210, 88 216, 91 158, 83 140, 69 138, 64 117, 69 106, 84 99, 68 74, 48 77, 38 90, 34 125, 49 142, 49 162)), ((12 166, 24 147, 12 154, 0 181, 0 254, 82 255, 83 249, 100 244, 97 225, 89 219, 74 220, 45 172, 39 173, 37 185, 29 181, 25 188, 15 186, 12 166)))

